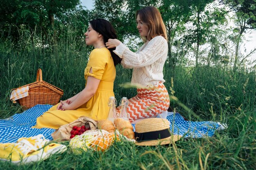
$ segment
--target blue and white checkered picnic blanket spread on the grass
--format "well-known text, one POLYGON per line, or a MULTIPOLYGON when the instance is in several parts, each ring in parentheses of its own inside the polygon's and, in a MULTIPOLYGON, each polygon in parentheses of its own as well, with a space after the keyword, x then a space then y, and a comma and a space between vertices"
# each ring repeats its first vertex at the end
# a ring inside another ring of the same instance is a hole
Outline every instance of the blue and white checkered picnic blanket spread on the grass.
MULTIPOLYGON (((23 113, 17 113, 8 119, 0 119, 0 143, 14 143, 20 137, 31 137, 39 134, 43 134, 46 139, 52 140, 51 134, 55 129, 31 128, 36 125, 36 118, 51 107, 52 105, 38 104, 23 113)), ((218 122, 185 121, 179 113, 169 113, 166 119, 170 121, 171 131, 173 131, 175 135, 179 134, 183 137, 211 137, 215 130, 220 127, 218 122)), ((135 128, 135 124, 132 124, 132 126, 135 128)))

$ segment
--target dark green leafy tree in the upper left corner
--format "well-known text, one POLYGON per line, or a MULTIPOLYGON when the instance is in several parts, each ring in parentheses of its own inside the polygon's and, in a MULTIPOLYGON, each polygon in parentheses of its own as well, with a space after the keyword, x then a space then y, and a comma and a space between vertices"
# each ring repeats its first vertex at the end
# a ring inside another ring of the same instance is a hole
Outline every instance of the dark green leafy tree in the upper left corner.
POLYGON ((37 26, 38 30, 43 31, 43 39, 44 37, 47 39, 48 32, 50 32, 53 44, 56 44, 54 18, 75 9, 79 3, 79 0, 13 0, 12 2, 4 0, 0 16, 1 29, 4 29, 4 26, 19 27, 20 24, 25 24, 31 33, 31 42, 34 46, 33 33, 37 26))

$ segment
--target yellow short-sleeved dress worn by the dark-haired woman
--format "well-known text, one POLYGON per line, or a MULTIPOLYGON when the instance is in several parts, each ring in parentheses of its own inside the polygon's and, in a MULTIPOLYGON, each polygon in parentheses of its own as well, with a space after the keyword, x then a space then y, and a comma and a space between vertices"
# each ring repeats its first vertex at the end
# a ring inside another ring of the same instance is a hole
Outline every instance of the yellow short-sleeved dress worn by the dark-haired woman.
POLYGON ((81 116, 90 117, 94 120, 107 119, 108 99, 114 96, 113 86, 116 77, 114 61, 107 48, 92 50, 84 75, 85 80, 88 76, 101 80, 94 96, 75 110, 56 110, 58 104, 53 106, 36 119, 36 126, 32 128, 58 129, 60 126, 75 121, 81 116), (92 73, 90 73, 91 68, 92 73))

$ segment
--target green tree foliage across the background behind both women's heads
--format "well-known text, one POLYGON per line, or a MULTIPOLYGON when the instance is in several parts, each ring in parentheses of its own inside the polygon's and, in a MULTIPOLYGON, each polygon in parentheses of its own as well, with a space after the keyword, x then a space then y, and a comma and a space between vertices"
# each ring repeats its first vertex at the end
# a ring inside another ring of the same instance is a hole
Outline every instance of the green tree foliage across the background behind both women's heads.
POLYGON ((1 41, 11 40, 20 49, 26 46, 34 48, 35 43, 49 44, 53 52, 59 40, 72 37, 83 43, 88 22, 96 18, 109 20, 119 40, 136 47, 142 42, 138 42, 135 13, 143 7, 155 6, 166 24, 167 63, 172 68, 177 64, 187 64, 189 56, 195 59, 196 65, 210 65, 232 58, 227 55, 227 50, 231 49, 229 41, 236 44, 237 63, 243 33, 256 26, 256 0, 94 0, 92 10, 81 7, 79 0, 1 1, 1 41), (233 30, 232 34, 223 29, 229 22, 227 13, 230 11, 236 13, 235 23, 238 25, 229 29, 233 30))

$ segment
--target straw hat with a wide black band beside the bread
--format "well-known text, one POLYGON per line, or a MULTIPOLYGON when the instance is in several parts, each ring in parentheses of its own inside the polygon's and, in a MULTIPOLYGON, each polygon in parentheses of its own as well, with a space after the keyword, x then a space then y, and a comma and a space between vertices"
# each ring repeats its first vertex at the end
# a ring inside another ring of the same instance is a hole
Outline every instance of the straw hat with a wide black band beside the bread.
POLYGON ((155 146, 170 144, 182 136, 172 135, 167 119, 148 118, 135 124, 135 140, 139 146, 155 146))

